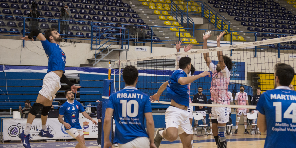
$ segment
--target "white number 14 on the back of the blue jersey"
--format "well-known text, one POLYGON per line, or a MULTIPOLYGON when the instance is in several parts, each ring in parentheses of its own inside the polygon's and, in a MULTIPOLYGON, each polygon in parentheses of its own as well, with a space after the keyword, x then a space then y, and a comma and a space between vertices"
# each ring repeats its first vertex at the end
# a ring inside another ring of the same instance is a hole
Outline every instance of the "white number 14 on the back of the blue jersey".
MULTIPOLYGON (((276 122, 281 122, 281 102, 274 102, 273 105, 276 107, 276 122)), ((284 118, 292 119, 292 123, 296 123, 296 103, 291 103, 284 112, 284 118)))

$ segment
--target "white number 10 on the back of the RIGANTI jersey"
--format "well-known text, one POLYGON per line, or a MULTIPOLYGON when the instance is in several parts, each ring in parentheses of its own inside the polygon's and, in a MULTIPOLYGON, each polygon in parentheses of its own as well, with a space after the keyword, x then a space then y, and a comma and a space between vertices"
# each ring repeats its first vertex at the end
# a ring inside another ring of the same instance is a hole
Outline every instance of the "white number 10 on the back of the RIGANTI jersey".
POLYGON ((127 103, 127 100, 120 100, 120 104, 122 104, 122 117, 136 117, 139 112, 139 103, 136 100, 130 100, 127 103), (133 104, 133 113, 131 113, 131 105, 133 104))

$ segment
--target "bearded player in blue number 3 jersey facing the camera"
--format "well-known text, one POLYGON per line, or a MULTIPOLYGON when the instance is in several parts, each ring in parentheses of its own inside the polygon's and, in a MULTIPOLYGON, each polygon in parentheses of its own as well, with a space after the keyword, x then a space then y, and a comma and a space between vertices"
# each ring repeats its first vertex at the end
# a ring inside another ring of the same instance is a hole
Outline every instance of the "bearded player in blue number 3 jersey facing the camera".
POLYGON ((78 141, 76 148, 86 148, 83 129, 79 123, 79 113, 81 112, 86 119, 91 120, 94 124, 96 124, 96 120, 85 112, 80 102, 74 100, 74 94, 70 89, 65 91, 65 96, 67 101, 59 108, 59 122, 65 126, 66 132, 78 141))

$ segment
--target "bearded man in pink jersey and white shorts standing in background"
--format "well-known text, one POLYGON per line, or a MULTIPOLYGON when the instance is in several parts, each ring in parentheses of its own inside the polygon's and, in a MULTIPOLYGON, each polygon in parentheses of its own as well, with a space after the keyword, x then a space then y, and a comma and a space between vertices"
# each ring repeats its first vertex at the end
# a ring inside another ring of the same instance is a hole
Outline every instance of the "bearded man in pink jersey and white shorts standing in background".
MULTIPOLYGON (((235 94, 235 104, 237 105, 249 105, 249 100, 248 100, 248 94, 244 92, 244 86, 239 87, 239 92, 235 94)), ((235 123, 235 132, 234 134, 237 134, 237 127, 239 126, 239 120, 240 117, 243 114, 244 117, 244 133, 249 134, 247 131, 247 113, 249 112, 249 109, 246 108, 236 108, 237 112, 237 122, 235 123)))

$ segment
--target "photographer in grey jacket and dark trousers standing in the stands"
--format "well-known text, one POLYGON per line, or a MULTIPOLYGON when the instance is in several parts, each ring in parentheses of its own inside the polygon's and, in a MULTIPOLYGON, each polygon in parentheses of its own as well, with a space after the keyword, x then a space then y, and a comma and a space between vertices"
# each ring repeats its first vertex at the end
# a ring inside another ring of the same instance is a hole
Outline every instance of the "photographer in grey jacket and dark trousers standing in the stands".
MULTIPOLYGON (((67 5, 65 5, 61 9, 61 18, 62 18, 62 20, 70 20, 70 16, 71 16, 71 11, 69 10, 69 7, 67 5)), ((70 23, 70 21, 61 21, 61 23, 60 23, 59 34, 62 34, 63 30, 65 29, 65 42, 67 42, 67 38, 68 38, 67 35, 68 35, 69 23, 70 23)))

